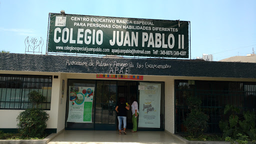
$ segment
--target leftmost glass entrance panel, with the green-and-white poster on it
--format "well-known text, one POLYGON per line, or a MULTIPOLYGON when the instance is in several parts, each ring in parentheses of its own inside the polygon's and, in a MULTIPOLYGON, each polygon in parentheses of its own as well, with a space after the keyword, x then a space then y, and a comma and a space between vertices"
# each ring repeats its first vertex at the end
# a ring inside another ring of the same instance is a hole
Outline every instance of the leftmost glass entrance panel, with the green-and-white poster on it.
POLYGON ((96 80, 68 79, 65 129, 93 130, 96 80))

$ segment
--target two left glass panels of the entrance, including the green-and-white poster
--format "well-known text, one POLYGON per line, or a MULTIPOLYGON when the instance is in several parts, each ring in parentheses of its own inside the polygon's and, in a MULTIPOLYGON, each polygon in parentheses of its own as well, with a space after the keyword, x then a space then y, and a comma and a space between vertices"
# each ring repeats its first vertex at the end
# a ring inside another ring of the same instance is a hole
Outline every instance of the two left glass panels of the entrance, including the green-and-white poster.
POLYGON ((68 92, 65 129, 116 129, 116 81, 68 79, 68 92), (88 104, 87 101, 91 103, 88 104), (75 105, 77 106, 73 107, 75 105))

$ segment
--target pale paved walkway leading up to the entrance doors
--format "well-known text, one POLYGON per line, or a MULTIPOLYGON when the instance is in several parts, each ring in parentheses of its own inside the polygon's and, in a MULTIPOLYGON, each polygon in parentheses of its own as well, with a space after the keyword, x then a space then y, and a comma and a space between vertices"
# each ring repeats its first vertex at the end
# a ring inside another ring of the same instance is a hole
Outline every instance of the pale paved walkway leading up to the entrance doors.
POLYGON ((118 134, 118 131, 94 131, 94 130, 64 130, 56 137, 54 137, 48 144, 107 144, 107 143, 184 143, 174 134, 164 131, 137 131, 130 132, 126 130, 127 134, 118 134))

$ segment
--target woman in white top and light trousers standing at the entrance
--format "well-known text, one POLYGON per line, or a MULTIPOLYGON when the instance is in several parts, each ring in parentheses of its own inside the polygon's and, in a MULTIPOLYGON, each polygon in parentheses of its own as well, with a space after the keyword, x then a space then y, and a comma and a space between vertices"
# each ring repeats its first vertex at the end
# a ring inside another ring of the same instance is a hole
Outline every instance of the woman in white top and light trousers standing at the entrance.
POLYGON ((131 101, 133 101, 131 104, 131 113, 132 113, 131 121, 133 124, 133 128, 131 132, 137 132, 138 103, 134 96, 131 97, 131 101))

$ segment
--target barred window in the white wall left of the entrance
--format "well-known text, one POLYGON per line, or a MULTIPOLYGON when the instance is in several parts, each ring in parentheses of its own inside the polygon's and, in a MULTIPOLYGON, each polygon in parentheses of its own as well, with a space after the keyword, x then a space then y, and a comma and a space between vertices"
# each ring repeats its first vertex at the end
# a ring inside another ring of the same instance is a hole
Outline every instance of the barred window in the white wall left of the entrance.
POLYGON ((52 76, 49 75, 16 75, 0 74, 0 109, 31 108, 27 94, 39 91, 46 100, 42 109, 50 109, 52 76))

